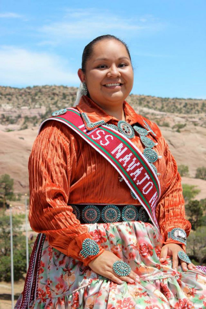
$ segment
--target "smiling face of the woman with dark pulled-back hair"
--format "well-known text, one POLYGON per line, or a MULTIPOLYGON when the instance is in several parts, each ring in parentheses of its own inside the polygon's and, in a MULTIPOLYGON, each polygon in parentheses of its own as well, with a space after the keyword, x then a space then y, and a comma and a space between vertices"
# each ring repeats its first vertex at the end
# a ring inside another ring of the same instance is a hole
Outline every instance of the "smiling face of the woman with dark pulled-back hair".
POLYGON ((85 82, 90 98, 106 108, 122 104, 133 86, 133 69, 127 50, 117 40, 101 40, 93 46, 86 62, 85 74, 78 75, 85 82))

